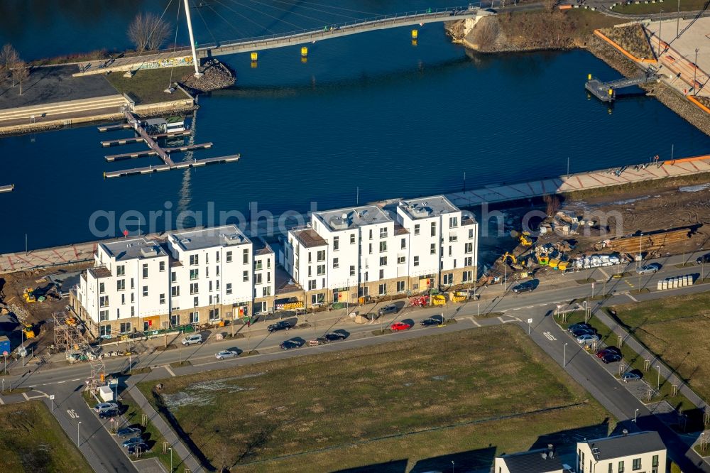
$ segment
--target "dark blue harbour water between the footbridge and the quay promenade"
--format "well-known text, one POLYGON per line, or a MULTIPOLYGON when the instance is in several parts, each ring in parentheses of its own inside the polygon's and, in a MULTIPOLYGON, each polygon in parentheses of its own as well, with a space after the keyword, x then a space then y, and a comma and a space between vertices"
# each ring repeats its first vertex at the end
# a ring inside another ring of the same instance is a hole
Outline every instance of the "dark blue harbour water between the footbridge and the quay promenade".
POLYGON ((263 51, 256 69, 247 55, 224 59, 239 87, 200 98, 195 141, 215 146, 195 156, 239 163, 104 180, 158 161, 106 163, 143 147, 107 151, 95 126, 0 139, 0 183, 16 185, 0 195, 0 252, 23 249, 25 234, 30 248, 92 239, 97 211, 115 212, 120 233, 121 214, 147 218, 165 202, 174 214, 248 214, 249 202, 303 212, 352 205, 356 187, 361 203, 427 195, 460 190, 464 172, 471 188, 565 173, 568 156, 574 172, 668 158, 672 145, 693 156, 710 141, 655 99, 611 114, 587 99, 587 73, 618 77, 588 53, 469 56, 440 25, 420 28, 417 46, 409 28, 312 44, 306 64, 299 48, 263 51))

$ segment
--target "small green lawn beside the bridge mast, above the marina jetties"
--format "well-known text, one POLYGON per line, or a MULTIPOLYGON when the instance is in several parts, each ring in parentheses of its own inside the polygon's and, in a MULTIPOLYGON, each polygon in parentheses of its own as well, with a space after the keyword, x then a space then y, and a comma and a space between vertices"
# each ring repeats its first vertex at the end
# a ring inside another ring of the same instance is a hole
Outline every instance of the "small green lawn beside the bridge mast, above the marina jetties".
MULTIPOLYGON (((190 70, 192 67, 174 67, 173 82, 182 80, 182 76, 190 70)), ((136 75, 130 78, 124 77, 124 73, 120 71, 111 72, 106 76, 119 93, 129 94, 138 105, 186 98, 185 94, 180 91, 173 94, 164 92, 170 85, 170 77, 169 68, 139 70, 136 75)))

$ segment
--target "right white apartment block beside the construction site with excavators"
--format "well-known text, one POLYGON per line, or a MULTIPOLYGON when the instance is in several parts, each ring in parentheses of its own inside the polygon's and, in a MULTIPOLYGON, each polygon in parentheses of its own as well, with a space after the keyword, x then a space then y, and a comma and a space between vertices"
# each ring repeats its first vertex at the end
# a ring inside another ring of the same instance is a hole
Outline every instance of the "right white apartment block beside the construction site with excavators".
POLYGON ((306 303, 473 283, 478 224, 444 196, 314 212, 292 229, 283 266, 306 303))

